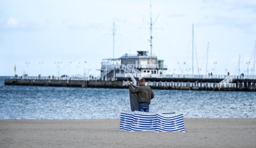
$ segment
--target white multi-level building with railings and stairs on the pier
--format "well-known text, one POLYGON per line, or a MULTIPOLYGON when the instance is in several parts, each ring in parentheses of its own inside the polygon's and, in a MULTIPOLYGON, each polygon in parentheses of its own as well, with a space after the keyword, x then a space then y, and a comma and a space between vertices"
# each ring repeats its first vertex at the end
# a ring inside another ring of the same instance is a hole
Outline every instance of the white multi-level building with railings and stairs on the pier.
POLYGON ((117 80, 131 78, 136 82, 140 78, 158 78, 166 74, 164 60, 148 56, 147 51, 138 51, 137 55, 125 54, 121 58, 103 59, 99 80, 117 80))

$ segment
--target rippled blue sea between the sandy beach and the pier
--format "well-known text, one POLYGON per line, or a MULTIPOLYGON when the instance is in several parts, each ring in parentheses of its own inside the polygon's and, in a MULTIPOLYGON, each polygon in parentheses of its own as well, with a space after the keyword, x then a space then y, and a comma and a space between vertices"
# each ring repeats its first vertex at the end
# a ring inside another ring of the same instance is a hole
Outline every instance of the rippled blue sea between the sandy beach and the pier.
MULTIPOLYGON (((130 110, 129 90, 5 86, 0 119, 112 119, 130 110)), ((184 118, 256 118, 256 92, 153 90, 151 110, 178 110, 184 118)))

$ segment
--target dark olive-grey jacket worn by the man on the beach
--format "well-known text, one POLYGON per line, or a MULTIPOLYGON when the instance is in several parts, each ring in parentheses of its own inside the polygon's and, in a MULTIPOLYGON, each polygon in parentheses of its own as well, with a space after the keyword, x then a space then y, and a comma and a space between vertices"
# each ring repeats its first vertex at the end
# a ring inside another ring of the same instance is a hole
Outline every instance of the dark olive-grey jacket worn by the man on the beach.
POLYGON ((149 86, 142 85, 134 90, 132 87, 129 87, 129 90, 132 94, 137 93, 138 103, 150 104, 151 99, 154 98, 155 94, 149 86))

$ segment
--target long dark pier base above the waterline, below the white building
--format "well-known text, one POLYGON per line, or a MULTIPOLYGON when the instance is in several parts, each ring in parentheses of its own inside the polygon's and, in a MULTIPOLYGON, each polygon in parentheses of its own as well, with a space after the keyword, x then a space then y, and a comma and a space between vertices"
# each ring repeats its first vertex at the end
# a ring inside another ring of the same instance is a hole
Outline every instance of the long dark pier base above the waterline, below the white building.
MULTIPOLYGON (((160 79, 159 79, 160 80, 160 79)), ((214 90, 214 91, 256 91, 256 81, 251 79, 234 79, 232 83, 222 84, 221 80, 205 79, 169 79, 168 81, 148 81, 147 86, 152 89, 164 90, 214 90)), ((127 80, 101 81, 84 80, 82 78, 60 78, 50 79, 48 77, 6 78, 5 85, 20 86, 58 86, 58 87, 82 87, 82 88, 127 88, 127 80)), ((137 83, 138 85, 138 83, 137 83)))

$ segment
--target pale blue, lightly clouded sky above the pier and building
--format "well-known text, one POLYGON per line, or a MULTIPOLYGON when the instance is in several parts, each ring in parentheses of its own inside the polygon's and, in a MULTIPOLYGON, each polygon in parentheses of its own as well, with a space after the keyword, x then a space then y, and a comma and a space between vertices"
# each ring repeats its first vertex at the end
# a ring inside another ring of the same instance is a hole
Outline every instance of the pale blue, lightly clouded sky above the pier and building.
POLYGON ((102 59, 150 55, 150 2, 166 74, 254 74, 255 0, 0 0, 0 76, 97 77, 102 59))

